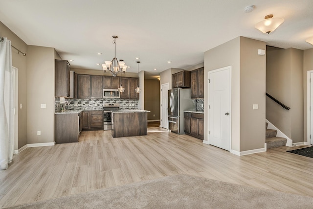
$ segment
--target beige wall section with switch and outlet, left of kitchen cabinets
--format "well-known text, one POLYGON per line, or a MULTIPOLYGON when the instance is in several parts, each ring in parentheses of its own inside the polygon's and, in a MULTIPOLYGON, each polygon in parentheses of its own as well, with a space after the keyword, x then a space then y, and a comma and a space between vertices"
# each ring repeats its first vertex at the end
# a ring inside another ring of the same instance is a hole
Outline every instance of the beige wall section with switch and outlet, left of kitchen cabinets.
POLYGON ((54 141, 54 56, 54 48, 28 46, 27 144, 54 141))

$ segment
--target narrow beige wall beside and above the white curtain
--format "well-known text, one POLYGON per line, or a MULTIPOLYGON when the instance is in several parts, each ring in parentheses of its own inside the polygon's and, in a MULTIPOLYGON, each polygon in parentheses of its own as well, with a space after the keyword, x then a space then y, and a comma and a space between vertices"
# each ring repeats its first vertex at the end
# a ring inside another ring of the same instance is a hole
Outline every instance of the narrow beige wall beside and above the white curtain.
POLYGON ((27 118, 27 67, 26 61, 28 57, 27 45, 15 35, 10 29, 8 29, 3 23, 0 22, 0 37, 7 37, 8 40, 11 40, 12 46, 20 49, 22 52, 26 53, 26 56, 23 56, 21 53, 14 48, 12 48, 12 65, 19 69, 18 76, 18 144, 15 144, 14 149, 17 150, 22 146, 26 145, 26 118, 27 118), (20 104, 22 104, 22 109, 20 109, 20 104))

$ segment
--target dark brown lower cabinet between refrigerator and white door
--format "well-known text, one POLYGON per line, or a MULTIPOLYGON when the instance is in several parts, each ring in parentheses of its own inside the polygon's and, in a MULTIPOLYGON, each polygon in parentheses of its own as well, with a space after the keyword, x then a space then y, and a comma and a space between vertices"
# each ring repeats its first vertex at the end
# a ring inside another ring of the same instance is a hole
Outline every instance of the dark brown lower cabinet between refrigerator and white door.
POLYGON ((204 120, 201 113, 184 113, 184 131, 187 135, 203 140, 204 120))

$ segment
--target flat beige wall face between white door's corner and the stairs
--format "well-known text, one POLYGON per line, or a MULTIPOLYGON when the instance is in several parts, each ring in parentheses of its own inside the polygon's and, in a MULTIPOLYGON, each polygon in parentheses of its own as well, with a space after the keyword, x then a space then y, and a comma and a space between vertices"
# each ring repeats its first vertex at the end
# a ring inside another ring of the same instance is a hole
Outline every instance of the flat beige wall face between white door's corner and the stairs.
POLYGON ((258 49, 266 50, 266 43, 240 37, 240 151, 265 144, 266 56, 258 49))

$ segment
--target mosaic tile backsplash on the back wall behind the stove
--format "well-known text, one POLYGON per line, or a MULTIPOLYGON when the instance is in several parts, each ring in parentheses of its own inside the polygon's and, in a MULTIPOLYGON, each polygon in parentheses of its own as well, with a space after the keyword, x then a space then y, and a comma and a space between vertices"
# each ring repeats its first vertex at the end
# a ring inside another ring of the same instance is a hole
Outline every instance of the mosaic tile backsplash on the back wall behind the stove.
MULTIPOLYGON (((67 110, 102 110, 103 103, 119 103, 120 108, 123 110, 136 110, 138 108, 138 100, 136 99, 66 99, 69 103, 67 105, 67 110)), ((60 98, 54 98, 54 112, 61 112, 61 107, 59 104, 60 98)), ((64 106, 63 106, 64 107, 64 106)))

